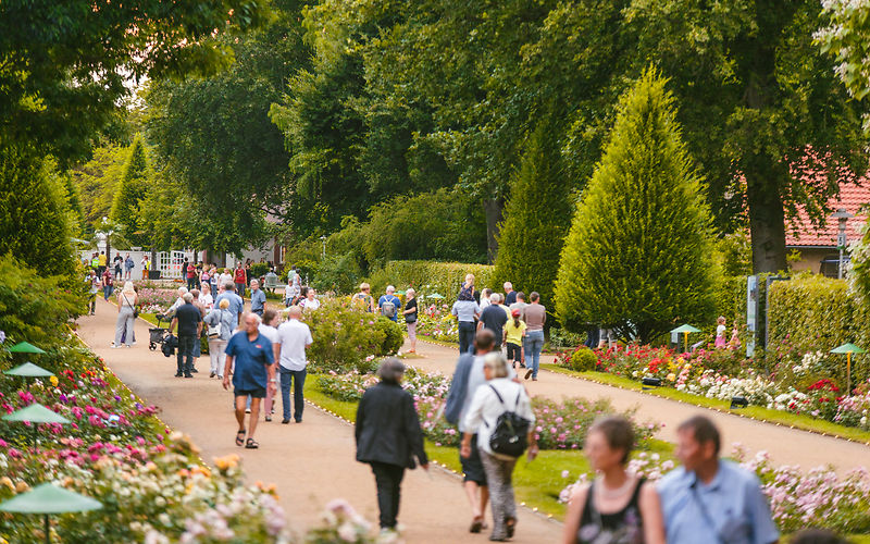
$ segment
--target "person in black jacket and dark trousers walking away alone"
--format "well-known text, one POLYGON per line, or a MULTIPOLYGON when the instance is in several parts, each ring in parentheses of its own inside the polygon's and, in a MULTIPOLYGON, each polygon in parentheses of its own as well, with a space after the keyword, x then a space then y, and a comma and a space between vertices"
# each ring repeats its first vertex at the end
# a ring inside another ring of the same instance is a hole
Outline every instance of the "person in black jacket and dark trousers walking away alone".
POLYGON ((405 469, 413 469, 417 457, 420 466, 428 470, 428 459, 414 399, 399 385, 405 364, 389 358, 377 369, 377 374, 381 382, 365 390, 357 408, 357 460, 372 466, 381 529, 393 530, 399 514, 405 469))

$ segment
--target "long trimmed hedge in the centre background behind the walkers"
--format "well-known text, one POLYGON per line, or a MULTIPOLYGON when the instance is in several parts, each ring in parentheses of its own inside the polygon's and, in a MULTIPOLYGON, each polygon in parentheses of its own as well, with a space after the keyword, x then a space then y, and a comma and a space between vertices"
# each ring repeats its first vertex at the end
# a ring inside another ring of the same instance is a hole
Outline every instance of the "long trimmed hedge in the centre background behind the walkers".
POLYGON ((459 287, 465 280, 465 274, 474 274, 474 284, 477 289, 493 285, 494 267, 488 264, 468 264, 463 262, 437 261, 388 261, 386 265, 374 272, 369 277, 372 294, 380 296, 387 285, 395 285, 403 290, 409 286, 422 295, 438 293, 444 295, 445 302, 452 302, 459 294, 459 287))

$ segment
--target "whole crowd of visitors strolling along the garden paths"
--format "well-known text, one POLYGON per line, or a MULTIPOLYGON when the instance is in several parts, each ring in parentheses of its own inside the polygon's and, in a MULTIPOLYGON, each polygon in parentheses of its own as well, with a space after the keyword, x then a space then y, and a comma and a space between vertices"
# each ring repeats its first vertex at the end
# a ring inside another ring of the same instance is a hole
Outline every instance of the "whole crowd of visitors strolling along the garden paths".
MULTIPOLYGON (((89 273, 95 294, 105 286, 98 272, 89 273)), ((285 287, 286 308, 278 311, 266 305, 260 282, 244 273, 244 269, 240 273, 239 269, 203 269, 194 277, 198 282, 188 276, 187 286, 178 287, 178 299, 169 310, 169 330, 177 331, 176 376, 194 376, 199 339, 208 338, 210 378, 216 376, 226 390, 233 387, 238 423, 235 443, 256 449, 260 412, 271 421, 278 391, 282 423, 302 421, 306 348, 313 338, 301 318, 303 311, 316 310, 320 300, 291 269, 285 287), (248 310, 241 296, 246 288, 248 310), (286 316, 284 322, 282 314, 286 316)), ((462 284, 451 309, 459 321, 460 355, 443 410, 445 420, 461 435, 459 460, 471 514, 469 531, 488 529, 488 505, 490 541, 514 535, 513 470, 521 456, 531 460, 538 454, 526 380, 537 379, 546 322, 546 308, 537 293, 526 297, 510 283, 504 289, 504 295, 477 292, 471 274, 462 284)), ((103 294, 111 296, 111 292, 103 294)), ((371 286, 363 283, 351 296, 351 307, 394 321, 403 319, 414 349, 418 302, 412 288, 403 295, 405 302, 390 285, 375 300, 371 286)), ((114 347, 135 342, 137 304, 136 287, 127 281, 117 293, 114 347)), ((357 411, 356 457, 371 466, 380 524, 385 531, 395 530, 398 523, 405 471, 417 465, 428 469, 414 400, 401 387, 405 371, 398 359, 384 361, 377 371, 380 382, 364 392, 357 411)), ((566 544, 778 541, 758 479, 720 458, 719 430, 708 418, 693 417, 680 425, 675 456, 682 467, 655 484, 627 470, 634 445, 633 426, 624 418, 601 418, 589 429, 584 450, 597 475, 570 502, 562 537, 566 544)))

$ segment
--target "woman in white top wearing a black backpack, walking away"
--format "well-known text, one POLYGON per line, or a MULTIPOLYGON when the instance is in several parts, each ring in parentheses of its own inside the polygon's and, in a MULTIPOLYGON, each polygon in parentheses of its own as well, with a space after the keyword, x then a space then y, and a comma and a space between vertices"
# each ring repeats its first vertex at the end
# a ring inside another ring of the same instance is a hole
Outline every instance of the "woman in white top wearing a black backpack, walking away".
MULTIPOLYGON (((511 482, 517 457, 493 452, 489 440, 502 413, 513 412, 529 421, 529 459, 537 456, 537 444, 533 432, 535 415, 525 390, 510 378, 508 360, 500 353, 487 354, 483 362, 486 384, 477 387, 471 407, 464 417, 464 428, 475 429, 481 461, 489 486, 489 503, 493 507, 493 534, 490 541, 506 541, 513 536, 517 527, 517 506, 511 482)), ((462 433, 462 457, 471 457, 473 432, 462 433)))

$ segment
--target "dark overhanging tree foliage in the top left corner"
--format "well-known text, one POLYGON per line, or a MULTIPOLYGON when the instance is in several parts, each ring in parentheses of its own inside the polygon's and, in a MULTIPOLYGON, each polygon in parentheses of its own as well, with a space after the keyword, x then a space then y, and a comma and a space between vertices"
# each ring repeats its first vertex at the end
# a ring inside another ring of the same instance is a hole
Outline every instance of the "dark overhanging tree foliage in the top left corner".
POLYGON ((260 23, 260 0, 10 0, 0 4, 0 136, 61 164, 87 154, 127 79, 211 73, 232 52, 209 40, 260 23))

